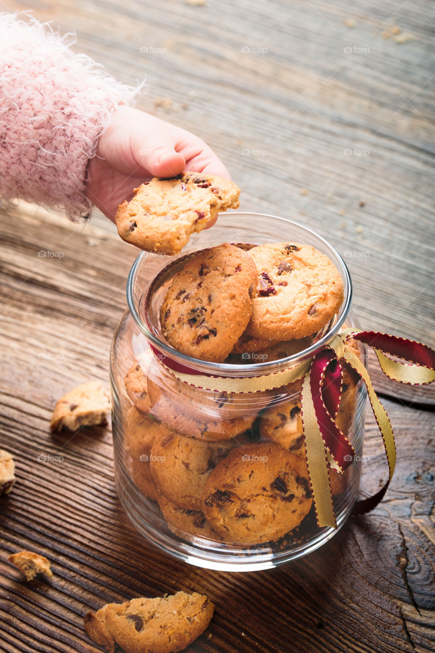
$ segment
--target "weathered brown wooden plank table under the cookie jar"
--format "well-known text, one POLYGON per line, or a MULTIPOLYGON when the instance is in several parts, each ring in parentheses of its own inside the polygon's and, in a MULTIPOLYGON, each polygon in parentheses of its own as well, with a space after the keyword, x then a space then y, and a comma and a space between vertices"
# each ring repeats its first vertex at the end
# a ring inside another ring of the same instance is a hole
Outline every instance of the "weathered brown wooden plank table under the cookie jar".
MULTIPOLYGON (((74 50, 123 82, 146 74, 138 106, 208 140, 242 187, 242 210, 285 215, 332 242, 346 256, 365 327, 433 343, 433 5, 358 0, 351 13, 340 0, 7 5, 29 7, 75 29, 74 50)), ((175 562, 120 509, 110 430, 49 431, 61 394, 108 380, 137 252, 101 217, 82 227, 23 202, 2 211, 0 229, 0 446, 17 466, 16 486, 0 500, 2 652, 97 651, 83 630, 89 608, 176 590, 217 605, 192 652, 434 650, 432 390, 382 384, 374 373, 395 426, 395 478, 372 514, 321 550, 246 574, 175 562), (62 459, 40 460, 50 455, 62 459), (50 558, 50 581, 24 582, 8 564, 23 548, 50 558)), ((370 415, 364 452, 362 483, 376 489, 386 465, 370 415)))

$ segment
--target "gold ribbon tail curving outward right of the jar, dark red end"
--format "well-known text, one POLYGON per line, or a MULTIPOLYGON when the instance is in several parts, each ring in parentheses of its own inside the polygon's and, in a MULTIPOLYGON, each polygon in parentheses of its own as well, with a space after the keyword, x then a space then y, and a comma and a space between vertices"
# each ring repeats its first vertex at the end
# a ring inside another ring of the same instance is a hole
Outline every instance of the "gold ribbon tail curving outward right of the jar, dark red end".
POLYGON ((385 408, 382 406, 381 402, 376 395, 376 392, 373 389, 372 382, 370 377, 361 360, 351 351, 346 350, 344 358, 347 360, 349 365, 361 376, 362 381, 364 381, 367 391, 368 398, 370 400, 370 405, 372 406, 372 411, 374 413, 376 422, 378 422, 379 431, 381 432, 383 446, 385 449, 385 454, 387 456, 388 469, 389 469, 389 479, 387 483, 374 494, 366 499, 362 499, 355 503, 353 507, 353 515, 362 515, 370 510, 372 510, 378 503, 382 500, 387 488, 393 478, 393 473, 396 466, 396 443, 395 436, 393 434, 393 428, 391 427, 391 422, 385 411, 385 408))

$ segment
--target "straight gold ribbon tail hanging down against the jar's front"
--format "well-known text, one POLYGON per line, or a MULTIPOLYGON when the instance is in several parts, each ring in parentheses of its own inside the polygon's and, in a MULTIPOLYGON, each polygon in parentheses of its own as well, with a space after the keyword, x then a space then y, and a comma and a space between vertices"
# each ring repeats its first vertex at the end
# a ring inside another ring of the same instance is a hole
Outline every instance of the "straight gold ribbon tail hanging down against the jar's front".
POLYGON ((314 403, 310 388, 310 374, 306 374, 300 396, 302 425, 308 474, 312 489, 315 517, 320 527, 337 528, 330 490, 330 479, 327 465, 327 450, 315 417, 314 403))

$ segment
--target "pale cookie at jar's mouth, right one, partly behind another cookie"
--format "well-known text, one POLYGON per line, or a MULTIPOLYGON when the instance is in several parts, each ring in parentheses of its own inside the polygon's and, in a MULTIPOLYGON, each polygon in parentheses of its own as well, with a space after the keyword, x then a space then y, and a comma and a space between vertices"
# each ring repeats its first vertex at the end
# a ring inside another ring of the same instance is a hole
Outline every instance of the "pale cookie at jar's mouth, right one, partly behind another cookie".
POLYGON ((292 340, 325 327, 343 301, 343 281, 332 261, 309 245, 278 243, 250 249, 257 291, 246 332, 292 340))

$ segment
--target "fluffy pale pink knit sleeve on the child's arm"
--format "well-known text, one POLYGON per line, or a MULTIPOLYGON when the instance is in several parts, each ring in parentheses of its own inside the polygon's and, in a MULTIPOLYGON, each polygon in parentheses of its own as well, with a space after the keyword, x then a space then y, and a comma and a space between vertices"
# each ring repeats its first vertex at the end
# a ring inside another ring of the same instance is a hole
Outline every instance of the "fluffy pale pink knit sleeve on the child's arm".
POLYGON ((72 35, 25 16, 0 14, 0 198, 89 215, 88 160, 120 103, 123 86, 84 55, 72 35))

